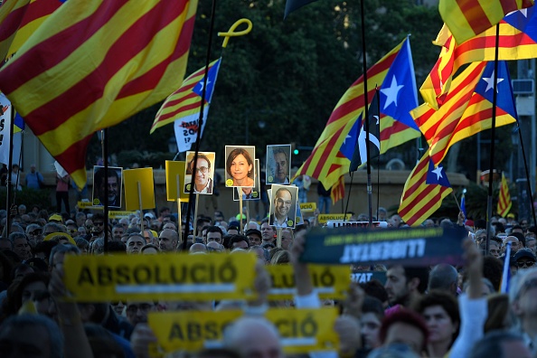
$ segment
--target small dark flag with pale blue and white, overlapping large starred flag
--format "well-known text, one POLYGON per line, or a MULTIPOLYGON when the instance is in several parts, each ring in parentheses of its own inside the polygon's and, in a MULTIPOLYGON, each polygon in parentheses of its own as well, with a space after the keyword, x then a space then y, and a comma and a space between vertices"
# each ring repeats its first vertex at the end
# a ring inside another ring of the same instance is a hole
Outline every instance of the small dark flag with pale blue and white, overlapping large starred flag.
MULTIPOLYGON (((381 127, 380 127, 380 109, 381 102, 379 100, 380 91, 375 91, 375 96, 371 101, 369 107, 369 129, 365 125, 365 120, 361 121, 360 132, 358 134, 358 142, 354 149, 354 154, 351 159, 351 165, 349 171, 354 172, 360 165, 367 163, 367 151, 369 151, 370 160, 375 159, 381 155, 381 127), (369 130, 369 145, 367 144, 367 130, 369 130)), ((361 116, 362 117, 362 116, 361 116)))

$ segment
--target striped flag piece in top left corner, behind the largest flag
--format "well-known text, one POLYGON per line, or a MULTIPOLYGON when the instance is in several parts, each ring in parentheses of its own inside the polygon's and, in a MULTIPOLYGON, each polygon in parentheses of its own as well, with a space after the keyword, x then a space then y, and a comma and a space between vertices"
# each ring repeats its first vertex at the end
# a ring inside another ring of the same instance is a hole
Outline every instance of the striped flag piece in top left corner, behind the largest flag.
POLYGON ((0 6, 0 58, 17 52, 66 0, 6 0, 0 6))

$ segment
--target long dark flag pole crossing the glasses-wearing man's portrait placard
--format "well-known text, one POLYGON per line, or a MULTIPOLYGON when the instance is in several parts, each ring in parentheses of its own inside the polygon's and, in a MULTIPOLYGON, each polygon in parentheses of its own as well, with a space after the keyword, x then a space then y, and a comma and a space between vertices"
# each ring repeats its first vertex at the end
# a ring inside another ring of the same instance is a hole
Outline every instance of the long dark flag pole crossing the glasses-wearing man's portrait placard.
MULTIPOLYGON (((205 104, 205 95, 206 95, 206 89, 207 89, 207 78, 209 77, 209 64, 211 63, 211 44, 212 44, 212 32, 214 30, 214 14, 216 13, 216 0, 212 0, 212 6, 211 6, 211 25, 209 26, 209 40, 207 44, 207 52, 205 55, 205 73, 203 73, 203 89, 202 89, 202 99, 200 99, 200 117, 198 118, 198 129, 196 133, 196 142, 194 143, 194 157, 193 157, 193 175, 190 181, 190 193, 189 193, 189 200, 188 200, 188 206, 186 209, 186 222, 184 223, 184 238, 183 238, 183 251, 186 251, 186 239, 188 238, 188 228, 189 228, 189 221, 190 221, 190 213, 192 212, 192 204, 194 199, 194 178, 195 178, 195 170, 196 170, 196 164, 198 163, 198 154, 200 152, 200 142, 202 141, 202 128, 203 128, 203 107, 205 104)), ((196 208, 198 209, 197 205, 197 197, 196 197, 196 208)), ((195 242, 195 218, 194 218, 194 240, 195 242)))

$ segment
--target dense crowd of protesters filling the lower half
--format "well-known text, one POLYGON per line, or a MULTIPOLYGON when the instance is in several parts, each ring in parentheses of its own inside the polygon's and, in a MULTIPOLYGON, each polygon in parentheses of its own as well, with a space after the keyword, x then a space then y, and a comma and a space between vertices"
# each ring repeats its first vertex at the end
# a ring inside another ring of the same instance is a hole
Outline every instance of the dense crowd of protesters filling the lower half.
MULTIPOLYGON (((389 217, 381 209, 378 216, 374 219, 404 230, 398 215, 389 217)), ((280 229, 280 234, 268 218, 260 222, 240 222, 235 217, 225 220, 218 211, 212 217, 200 215, 193 227, 186 228, 168 208, 107 221, 101 212, 79 211, 70 217, 38 208, 27 211, 19 205, 11 212, 0 211, 0 219, 4 226, 0 237, 2 357, 148 357, 151 344, 156 342, 155 333, 147 325, 152 312, 221 311, 229 307, 240 307, 245 315, 226 328, 221 348, 189 355, 283 357, 278 329, 263 313, 268 307, 323 306, 339 308, 341 315, 334 332, 340 344, 337 350, 312 352, 312 356, 524 358, 537 353, 537 230, 527 221, 493 221, 488 245, 485 221, 466 221, 460 214, 457 221, 425 221, 423 226, 466 226, 468 238, 461 248, 466 265, 363 267, 357 263, 353 272, 380 271, 385 282, 353 282, 346 299, 321 300, 308 265, 298 259, 307 232, 318 226, 316 215, 295 229, 280 229), (72 303, 64 299, 65 255, 179 251, 207 255, 208 260, 228 252, 253 252, 258 258, 254 284, 258 298, 235 303, 72 303), (509 258, 506 252, 510 252, 509 258), (500 294, 505 259, 510 262, 511 280, 508 293, 500 294), (293 267, 294 299, 268 299, 271 282, 266 265, 293 267)), ((363 214, 353 214, 352 218, 367 219, 363 214)))

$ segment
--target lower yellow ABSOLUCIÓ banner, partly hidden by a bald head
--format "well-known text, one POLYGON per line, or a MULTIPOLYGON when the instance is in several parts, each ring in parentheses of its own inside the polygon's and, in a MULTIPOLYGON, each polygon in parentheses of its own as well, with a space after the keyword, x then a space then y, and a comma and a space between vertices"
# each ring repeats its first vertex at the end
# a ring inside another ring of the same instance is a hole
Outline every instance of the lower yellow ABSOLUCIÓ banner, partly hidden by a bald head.
MULTIPOLYGON (((165 353, 222 346, 224 329, 242 316, 241 311, 150 313, 148 324, 165 353)), ((278 328, 287 354, 337 350, 335 308, 269 309, 265 315, 278 328)))

